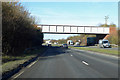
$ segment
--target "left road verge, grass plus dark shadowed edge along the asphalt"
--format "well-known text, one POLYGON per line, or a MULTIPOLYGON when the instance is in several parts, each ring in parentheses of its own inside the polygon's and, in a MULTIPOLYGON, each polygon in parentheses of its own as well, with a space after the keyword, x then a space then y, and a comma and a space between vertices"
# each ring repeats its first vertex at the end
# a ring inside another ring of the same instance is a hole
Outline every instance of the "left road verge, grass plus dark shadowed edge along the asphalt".
POLYGON ((18 73, 22 68, 34 62, 39 56, 41 56, 46 51, 46 49, 47 49, 46 47, 42 47, 42 49, 40 48, 40 49, 32 50, 30 53, 35 53, 35 54, 26 55, 30 57, 25 58, 26 57, 25 56, 25 57, 21 57, 23 58, 23 60, 14 60, 2 64, 2 68, 4 69, 2 71, 2 80, 6 80, 10 78, 14 74, 18 73))

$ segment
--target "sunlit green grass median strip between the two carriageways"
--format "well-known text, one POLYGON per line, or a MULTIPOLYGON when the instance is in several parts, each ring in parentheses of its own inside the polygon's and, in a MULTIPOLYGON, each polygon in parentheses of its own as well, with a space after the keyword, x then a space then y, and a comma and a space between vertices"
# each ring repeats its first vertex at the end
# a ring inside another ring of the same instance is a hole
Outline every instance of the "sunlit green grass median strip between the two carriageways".
POLYGON ((112 55, 118 55, 118 50, 108 50, 108 49, 99 49, 99 48, 88 48, 88 47, 69 47, 74 49, 80 49, 80 50, 87 50, 87 51, 94 51, 94 52, 100 52, 100 53, 106 53, 106 54, 112 54, 112 55))

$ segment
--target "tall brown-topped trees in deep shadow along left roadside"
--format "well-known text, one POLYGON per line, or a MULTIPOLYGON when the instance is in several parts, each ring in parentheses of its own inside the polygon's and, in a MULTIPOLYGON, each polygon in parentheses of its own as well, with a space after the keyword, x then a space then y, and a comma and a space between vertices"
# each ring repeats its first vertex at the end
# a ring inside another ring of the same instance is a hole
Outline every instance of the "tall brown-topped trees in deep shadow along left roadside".
POLYGON ((35 18, 19 2, 2 2, 2 53, 22 55, 26 48, 41 46, 43 34, 35 18))

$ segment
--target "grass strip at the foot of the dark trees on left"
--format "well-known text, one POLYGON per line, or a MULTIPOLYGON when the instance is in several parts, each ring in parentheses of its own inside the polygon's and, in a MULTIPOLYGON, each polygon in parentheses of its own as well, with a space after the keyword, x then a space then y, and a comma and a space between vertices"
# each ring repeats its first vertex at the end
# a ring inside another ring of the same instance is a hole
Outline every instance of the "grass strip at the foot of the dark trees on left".
MULTIPOLYGON (((4 61, 2 63, 2 73, 5 73, 7 71, 10 71, 20 64, 23 64, 24 62, 28 61, 29 59, 36 57, 38 54, 42 53, 45 50, 45 48, 41 48, 38 50, 32 50, 29 51, 29 53, 24 54, 22 56, 2 56, 2 60, 4 61)), ((0 67, 1 67, 0 66, 0 67)))

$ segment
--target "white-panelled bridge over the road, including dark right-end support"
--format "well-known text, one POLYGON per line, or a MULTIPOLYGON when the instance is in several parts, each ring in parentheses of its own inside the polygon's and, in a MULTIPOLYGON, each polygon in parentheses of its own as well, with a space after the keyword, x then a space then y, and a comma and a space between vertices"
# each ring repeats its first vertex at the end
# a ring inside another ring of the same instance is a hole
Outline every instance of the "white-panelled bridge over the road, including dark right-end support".
POLYGON ((38 25, 43 33, 48 34, 87 34, 96 35, 96 42, 110 34, 109 27, 74 26, 74 25, 38 25))

